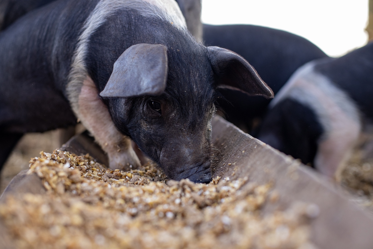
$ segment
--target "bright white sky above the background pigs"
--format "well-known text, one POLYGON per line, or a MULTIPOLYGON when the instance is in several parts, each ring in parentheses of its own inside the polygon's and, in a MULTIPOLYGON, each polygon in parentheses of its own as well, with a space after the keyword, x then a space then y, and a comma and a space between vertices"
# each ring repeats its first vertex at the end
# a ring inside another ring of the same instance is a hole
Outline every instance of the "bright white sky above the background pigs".
POLYGON ((330 56, 367 43, 368 0, 202 0, 206 24, 254 24, 307 38, 330 56))

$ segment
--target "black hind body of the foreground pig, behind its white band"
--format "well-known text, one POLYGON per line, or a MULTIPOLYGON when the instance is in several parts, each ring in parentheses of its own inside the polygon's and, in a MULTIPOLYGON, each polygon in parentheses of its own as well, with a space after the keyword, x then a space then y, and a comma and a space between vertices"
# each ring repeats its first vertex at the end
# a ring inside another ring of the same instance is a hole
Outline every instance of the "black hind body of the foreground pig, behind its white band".
POLYGON ((63 84, 90 12, 87 2, 56 1, 0 32, 0 130, 39 132, 76 123, 63 84))

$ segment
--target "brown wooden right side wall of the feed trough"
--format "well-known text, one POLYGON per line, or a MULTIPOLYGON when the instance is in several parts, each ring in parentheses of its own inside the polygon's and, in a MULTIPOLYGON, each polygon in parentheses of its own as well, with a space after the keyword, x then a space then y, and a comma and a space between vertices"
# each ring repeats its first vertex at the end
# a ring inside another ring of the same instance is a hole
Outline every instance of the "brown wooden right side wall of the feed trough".
POLYGON ((279 201, 267 203, 264 213, 288 208, 294 201, 315 203, 320 213, 311 223, 311 240, 320 248, 373 247, 372 216, 348 200, 339 187, 222 118, 214 118, 212 125, 214 146, 221 152, 214 176, 248 176, 249 182, 258 184, 272 181, 279 201))

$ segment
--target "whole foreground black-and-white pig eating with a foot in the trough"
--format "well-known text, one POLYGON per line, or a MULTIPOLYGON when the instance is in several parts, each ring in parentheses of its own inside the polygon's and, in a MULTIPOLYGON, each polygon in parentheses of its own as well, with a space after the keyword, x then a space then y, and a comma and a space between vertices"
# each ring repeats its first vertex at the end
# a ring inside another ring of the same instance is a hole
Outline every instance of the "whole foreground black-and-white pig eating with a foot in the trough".
POLYGON ((174 0, 57 0, 0 33, 0 144, 78 118, 110 168, 138 166, 132 138, 169 178, 209 182, 217 87, 273 97, 241 56, 198 43, 174 0))

